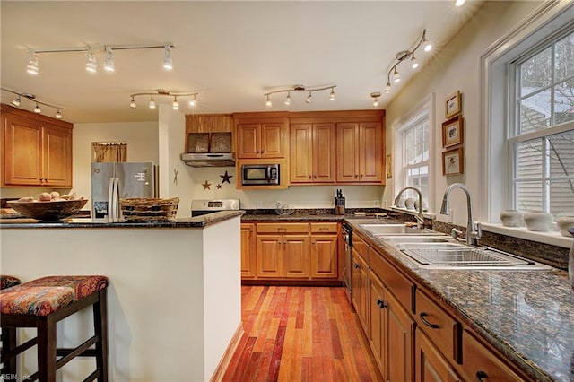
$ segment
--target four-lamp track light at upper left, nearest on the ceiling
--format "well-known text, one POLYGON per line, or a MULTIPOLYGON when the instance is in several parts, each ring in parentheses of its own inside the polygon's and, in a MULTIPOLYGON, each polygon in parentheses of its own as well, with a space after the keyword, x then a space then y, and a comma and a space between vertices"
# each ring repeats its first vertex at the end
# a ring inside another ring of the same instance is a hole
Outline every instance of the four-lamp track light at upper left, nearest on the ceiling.
POLYGON ((89 73, 96 73, 96 56, 95 53, 98 50, 103 50, 105 54, 104 59, 104 70, 106 72, 114 72, 114 51, 115 50, 128 50, 128 49, 149 49, 149 48, 161 48, 164 51, 163 55, 163 67, 166 70, 171 70, 173 63, 171 61, 171 48, 175 48, 172 43, 166 43, 161 45, 104 45, 103 49, 101 45, 86 46, 86 47, 73 47, 73 48, 36 48, 28 49, 28 65, 26 65, 26 71, 32 75, 39 74, 39 54, 48 53, 69 53, 69 52, 86 52, 86 71, 89 73), (96 47, 100 47, 96 49, 96 47))

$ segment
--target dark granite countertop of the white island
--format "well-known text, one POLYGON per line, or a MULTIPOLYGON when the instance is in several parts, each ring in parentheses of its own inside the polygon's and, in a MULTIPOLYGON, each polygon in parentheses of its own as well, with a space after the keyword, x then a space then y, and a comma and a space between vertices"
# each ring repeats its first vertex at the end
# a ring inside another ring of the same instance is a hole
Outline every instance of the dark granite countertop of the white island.
POLYGON ((226 221, 236 216, 241 216, 245 211, 224 211, 221 213, 209 213, 194 218, 182 218, 175 221, 124 221, 109 222, 92 219, 65 219, 63 221, 37 221, 34 219, 0 219, 0 229, 33 229, 33 228, 58 228, 58 229, 116 229, 116 228, 205 228, 220 221, 226 221))

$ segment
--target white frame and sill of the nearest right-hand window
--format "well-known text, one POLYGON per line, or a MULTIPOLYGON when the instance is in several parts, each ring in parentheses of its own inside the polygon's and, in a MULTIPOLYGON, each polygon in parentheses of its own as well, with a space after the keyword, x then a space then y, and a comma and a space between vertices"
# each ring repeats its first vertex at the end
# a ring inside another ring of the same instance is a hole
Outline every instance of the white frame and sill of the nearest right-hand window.
MULTIPOLYGON (((572 25, 574 4, 567 2, 544 2, 525 21, 495 41, 480 57, 480 142, 479 152, 480 216, 483 216, 483 229, 560 247, 570 247, 570 239, 561 237, 558 232, 538 233, 526 229, 509 229, 500 225, 500 212, 509 208, 514 200, 509 179, 514 174, 512 152, 508 150, 509 132, 506 126, 513 123, 510 113, 510 95, 516 91, 513 82, 508 81, 511 62, 543 44, 549 36, 560 33, 572 25), (535 41, 535 42, 533 42, 535 41), (503 147, 503 150, 501 149, 503 147), (502 170, 500 170, 502 169, 502 170), (500 192, 502 190, 502 192, 500 192)), ((570 130, 570 128, 568 128, 570 130)))

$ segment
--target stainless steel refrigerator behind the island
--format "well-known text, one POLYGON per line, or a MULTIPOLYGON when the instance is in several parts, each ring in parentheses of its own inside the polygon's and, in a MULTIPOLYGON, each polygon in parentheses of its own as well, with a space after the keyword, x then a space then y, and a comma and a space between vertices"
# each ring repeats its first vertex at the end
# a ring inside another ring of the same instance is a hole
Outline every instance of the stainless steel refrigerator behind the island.
POLYGON ((91 217, 119 221, 119 199, 155 197, 156 172, 152 162, 91 163, 91 217))

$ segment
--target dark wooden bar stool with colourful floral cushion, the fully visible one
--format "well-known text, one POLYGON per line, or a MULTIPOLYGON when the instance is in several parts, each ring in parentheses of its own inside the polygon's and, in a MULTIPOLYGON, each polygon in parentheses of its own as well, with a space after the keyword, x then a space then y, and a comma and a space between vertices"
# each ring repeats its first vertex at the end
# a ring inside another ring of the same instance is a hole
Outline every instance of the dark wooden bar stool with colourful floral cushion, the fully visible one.
POLYGON ((75 357, 94 357, 96 369, 84 381, 108 381, 108 313, 106 276, 48 276, 0 291, 0 327, 35 327, 37 336, 20 345, 4 343, 2 356, 8 374, 11 360, 38 345, 38 371, 29 381, 55 382, 56 371, 75 357), (94 335, 74 349, 57 348, 57 322, 83 308, 93 308, 94 335), (94 345, 95 349, 91 346, 94 345), (59 358, 58 358, 59 357, 59 358))

